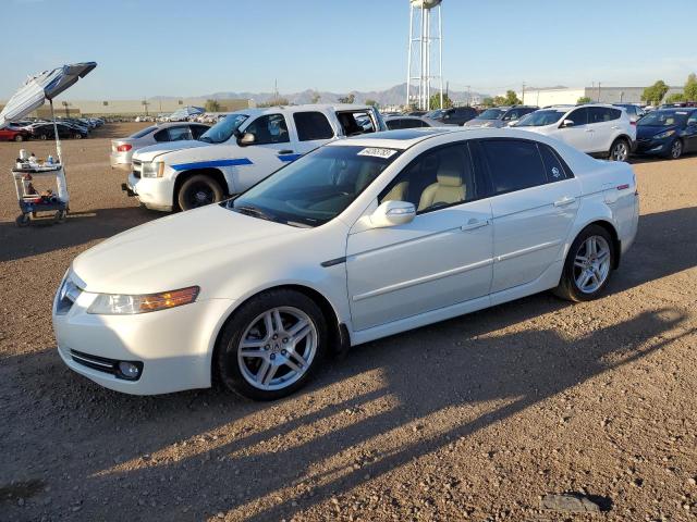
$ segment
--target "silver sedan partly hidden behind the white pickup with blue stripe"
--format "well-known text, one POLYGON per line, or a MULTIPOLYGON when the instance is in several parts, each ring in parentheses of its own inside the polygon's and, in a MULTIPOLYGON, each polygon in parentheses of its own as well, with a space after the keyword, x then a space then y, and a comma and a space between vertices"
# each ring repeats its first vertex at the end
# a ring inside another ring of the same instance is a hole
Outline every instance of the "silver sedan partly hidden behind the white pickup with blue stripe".
POLYGON ((210 126, 200 123, 161 123, 140 129, 127 138, 112 139, 109 157, 111 167, 131 171, 136 150, 164 141, 198 139, 209 128, 210 126))

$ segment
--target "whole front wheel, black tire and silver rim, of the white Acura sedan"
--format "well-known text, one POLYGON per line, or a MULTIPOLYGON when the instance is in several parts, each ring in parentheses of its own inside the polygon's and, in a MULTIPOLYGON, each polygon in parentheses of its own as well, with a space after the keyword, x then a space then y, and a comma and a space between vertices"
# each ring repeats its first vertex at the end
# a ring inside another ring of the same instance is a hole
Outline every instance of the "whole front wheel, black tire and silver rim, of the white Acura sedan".
POLYGON ((228 389, 253 400, 276 400, 313 377, 327 339, 325 316, 315 301, 291 289, 269 290, 228 321, 213 363, 228 389))

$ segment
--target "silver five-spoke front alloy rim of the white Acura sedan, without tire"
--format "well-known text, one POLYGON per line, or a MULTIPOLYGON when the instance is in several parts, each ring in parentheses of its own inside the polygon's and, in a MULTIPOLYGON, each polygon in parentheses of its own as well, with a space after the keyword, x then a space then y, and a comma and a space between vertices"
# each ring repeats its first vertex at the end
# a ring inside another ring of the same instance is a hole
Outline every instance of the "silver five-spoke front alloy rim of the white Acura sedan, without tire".
POLYGON ((237 364, 252 386, 277 390, 305 375, 317 353, 313 320, 294 307, 268 310, 252 321, 240 339, 237 364))

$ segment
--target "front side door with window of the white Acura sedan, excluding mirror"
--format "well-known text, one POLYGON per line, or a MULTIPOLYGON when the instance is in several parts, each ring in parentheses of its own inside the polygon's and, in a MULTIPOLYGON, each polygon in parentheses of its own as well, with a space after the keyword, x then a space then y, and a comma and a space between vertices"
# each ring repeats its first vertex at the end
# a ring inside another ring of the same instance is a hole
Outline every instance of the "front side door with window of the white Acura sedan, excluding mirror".
POLYGON ((409 201, 407 224, 369 228, 359 220, 346 245, 355 331, 379 326, 489 294, 493 235, 491 206, 478 199, 466 144, 426 152, 383 190, 378 204, 409 201))

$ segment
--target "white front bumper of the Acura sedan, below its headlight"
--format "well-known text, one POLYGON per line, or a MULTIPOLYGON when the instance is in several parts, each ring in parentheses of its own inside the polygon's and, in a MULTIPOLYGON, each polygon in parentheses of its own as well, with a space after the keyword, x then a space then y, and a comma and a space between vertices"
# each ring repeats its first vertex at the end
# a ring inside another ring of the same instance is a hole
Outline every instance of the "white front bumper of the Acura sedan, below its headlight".
POLYGON ((170 310, 136 315, 95 315, 87 308, 96 294, 81 293, 68 313, 57 313, 53 331, 58 352, 76 373, 110 389, 157 395, 211 383, 215 338, 233 301, 204 299, 170 310), (133 361, 142 364, 137 381, 120 377, 87 361, 133 361))

